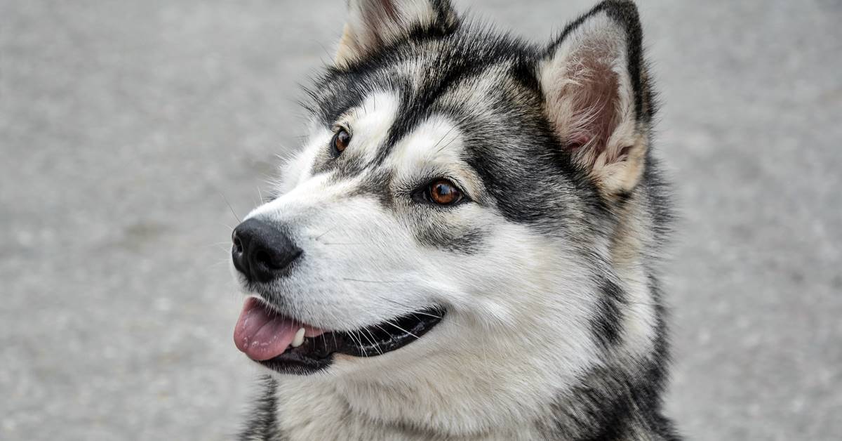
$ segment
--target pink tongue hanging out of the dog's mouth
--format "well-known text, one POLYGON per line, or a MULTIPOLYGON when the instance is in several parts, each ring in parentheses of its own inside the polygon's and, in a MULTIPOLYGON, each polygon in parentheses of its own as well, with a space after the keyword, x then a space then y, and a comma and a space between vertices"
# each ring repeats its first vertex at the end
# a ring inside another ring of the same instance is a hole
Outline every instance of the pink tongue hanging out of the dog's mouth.
POLYGON ((300 328, 300 324, 274 314, 257 298, 250 297, 242 305, 240 319, 234 328, 234 344, 248 358, 268 360, 284 353, 300 328))

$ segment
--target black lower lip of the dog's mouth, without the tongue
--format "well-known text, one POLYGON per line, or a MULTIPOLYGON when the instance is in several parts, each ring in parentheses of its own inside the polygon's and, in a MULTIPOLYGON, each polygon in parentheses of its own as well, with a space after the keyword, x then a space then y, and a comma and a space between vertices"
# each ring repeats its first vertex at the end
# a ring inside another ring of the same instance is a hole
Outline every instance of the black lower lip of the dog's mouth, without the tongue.
POLYGON ((278 357, 258 363, 281 374, 313 374, 333 363, 334 354, 376 357, 418 340, 438 325, 445 309, 429 308, 358 331, 326 332, 305 338, 300 347, 289 347, 278 357))

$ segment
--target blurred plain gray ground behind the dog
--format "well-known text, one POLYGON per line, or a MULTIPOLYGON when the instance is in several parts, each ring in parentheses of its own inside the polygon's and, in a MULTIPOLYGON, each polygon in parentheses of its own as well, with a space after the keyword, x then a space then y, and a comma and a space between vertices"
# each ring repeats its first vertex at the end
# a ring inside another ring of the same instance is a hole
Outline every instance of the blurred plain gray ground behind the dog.
MULTIPOLYGON (((461 1, 547 39, 594 0, 461 1)), ((641 0, 683 215, 669 414, 842 436, 842 4, 641 0)), ((237 216, 344 2, 0 0, 0 438, 226 439, 237 216)))

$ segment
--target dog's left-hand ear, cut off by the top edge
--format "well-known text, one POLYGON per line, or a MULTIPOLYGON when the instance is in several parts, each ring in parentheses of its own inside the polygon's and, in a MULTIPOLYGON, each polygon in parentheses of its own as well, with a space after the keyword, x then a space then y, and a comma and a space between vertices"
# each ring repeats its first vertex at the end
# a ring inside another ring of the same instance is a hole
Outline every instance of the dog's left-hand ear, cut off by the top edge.
POLYGON ((348 66, 413 35, 445 35, 459 24, 449 0, 349 0, 335 63, 348 66))

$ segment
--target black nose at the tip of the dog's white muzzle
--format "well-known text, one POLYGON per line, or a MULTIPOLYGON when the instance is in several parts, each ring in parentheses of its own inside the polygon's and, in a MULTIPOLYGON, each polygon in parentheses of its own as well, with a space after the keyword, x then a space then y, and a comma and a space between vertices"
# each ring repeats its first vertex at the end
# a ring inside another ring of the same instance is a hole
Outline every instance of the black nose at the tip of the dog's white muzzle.
POLYGON ((237 225, 232 234, 234 267, 252 282, 269 282, 286 273, 301 249, 271 224, 256 218, 237 225))

